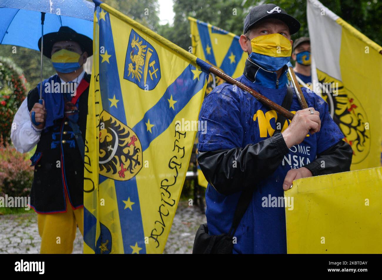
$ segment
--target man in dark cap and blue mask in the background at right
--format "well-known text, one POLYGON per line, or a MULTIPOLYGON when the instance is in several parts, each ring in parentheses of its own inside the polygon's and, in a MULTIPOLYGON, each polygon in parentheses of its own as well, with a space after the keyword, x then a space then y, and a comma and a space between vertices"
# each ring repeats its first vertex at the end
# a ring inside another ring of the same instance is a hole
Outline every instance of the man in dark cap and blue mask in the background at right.
POLYGON ((312 83, 309 37, 300 37, 293 43, 292 59, 296 61, 293 70, 295 70, 300 86, 312 88, 312 86, 307 85, 308 83, 312 83))

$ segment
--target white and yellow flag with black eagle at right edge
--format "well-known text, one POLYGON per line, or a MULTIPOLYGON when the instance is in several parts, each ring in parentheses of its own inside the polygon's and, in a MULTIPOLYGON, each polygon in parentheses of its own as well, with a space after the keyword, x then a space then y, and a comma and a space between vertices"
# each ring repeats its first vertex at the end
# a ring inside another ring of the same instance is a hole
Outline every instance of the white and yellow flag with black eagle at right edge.
POLYGON ((353 148, 351 170, 380 166, 382 137, 382 46, 317 0, 308 0, 313 87, 353 148))

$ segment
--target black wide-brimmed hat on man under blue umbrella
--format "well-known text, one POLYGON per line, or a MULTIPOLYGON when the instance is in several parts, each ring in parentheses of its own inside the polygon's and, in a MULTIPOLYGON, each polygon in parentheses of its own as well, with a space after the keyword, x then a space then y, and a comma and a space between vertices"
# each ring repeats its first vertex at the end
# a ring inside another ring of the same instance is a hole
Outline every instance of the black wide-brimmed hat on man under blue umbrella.
MULTIPOLYGON (((44 35, 44 56, 52 57, 52 48, 55 42, 73 41, 79 43, 87 56, 93 55, 93 40, 83 34, 79 34, 68 26, 61 26, 58 32, 52 32, 44 35)), ((39 39, 39 50, 41 51, 41 38, 39 39)))

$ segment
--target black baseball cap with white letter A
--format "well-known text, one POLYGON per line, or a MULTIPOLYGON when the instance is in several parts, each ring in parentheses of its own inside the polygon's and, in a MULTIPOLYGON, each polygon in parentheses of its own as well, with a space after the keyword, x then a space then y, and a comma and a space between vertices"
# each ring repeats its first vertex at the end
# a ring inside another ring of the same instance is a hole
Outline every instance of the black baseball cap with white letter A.
POLYGON ((265 4, 255 6, 249 11, 249 14, 244 20, 244 33, 245 34, 251 27, 263 19, 275 18, 285 22, 289 27, 290 34, 295 34, 301 27, 300 22, 287 14, 282 8, 275 4, 265 4))

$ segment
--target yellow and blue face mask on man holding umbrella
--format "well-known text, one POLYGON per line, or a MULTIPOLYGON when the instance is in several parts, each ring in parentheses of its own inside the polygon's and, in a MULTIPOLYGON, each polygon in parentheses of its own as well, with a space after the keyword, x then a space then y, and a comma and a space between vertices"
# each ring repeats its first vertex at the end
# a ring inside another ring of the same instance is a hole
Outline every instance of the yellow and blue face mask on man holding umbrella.
POLYGON ((53 67, 60 73, 74 72, 81 67, 81 65, 79 65, 81 55, 82 54, 65 49, 56 51, 52 55, 53 67))

